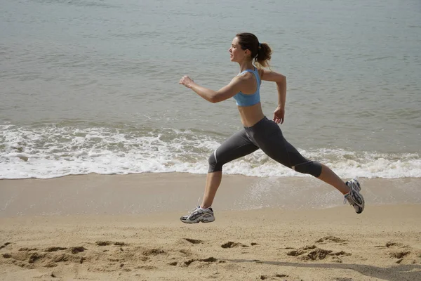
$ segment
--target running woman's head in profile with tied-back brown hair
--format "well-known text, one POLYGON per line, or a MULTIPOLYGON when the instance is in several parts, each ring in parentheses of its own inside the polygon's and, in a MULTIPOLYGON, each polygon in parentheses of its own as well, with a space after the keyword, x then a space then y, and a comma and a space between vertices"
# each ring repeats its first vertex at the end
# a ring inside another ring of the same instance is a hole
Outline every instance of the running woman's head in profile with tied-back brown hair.
POLYGON ((236 34, 229 48, 231 60, 241 62, 242 60, 254 60, 262 67, 269 66, 272 50, 266 43, 260 43, 258 37, 251 33, 236 34))

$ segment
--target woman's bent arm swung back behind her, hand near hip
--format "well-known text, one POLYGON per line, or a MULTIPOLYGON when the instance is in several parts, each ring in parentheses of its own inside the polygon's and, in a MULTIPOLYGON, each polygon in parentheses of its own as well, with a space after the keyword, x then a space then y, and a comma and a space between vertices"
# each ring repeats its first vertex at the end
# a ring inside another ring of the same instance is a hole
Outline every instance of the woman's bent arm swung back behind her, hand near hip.
POLYGON ((274 111, 274 122, 283 123, 285 119, 285 103, 286 103, 286 77, 281 73, 272 70, 262 70, 260 79, 265 81, 272 81, 276 83, 278 90, 278 107, 274 111))

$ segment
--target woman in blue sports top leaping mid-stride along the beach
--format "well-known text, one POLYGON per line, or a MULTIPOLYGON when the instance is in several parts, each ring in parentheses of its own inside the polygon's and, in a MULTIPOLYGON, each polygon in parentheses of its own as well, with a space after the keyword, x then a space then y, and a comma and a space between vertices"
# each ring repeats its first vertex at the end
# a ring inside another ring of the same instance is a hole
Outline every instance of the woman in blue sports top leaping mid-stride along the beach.
POLYGON ((270 47, 265 43, 260 44, 254 34, 240 33, 236 34, 228 51, 230 60, 239 63, 240 74, 219 91, 199 86, 188 76, 180 79, 179 84, 192 89, 211 103, 219 103, 234 97, 240 112, 241 123, 244 126, 243 130, 229 137, 210 155, 203 201, 189 215, 182 216, 180 220, 183 223, 215 221, 211 205, 221 183, 222 165, 248 155, 259 148, 276 162, 333 185, 345 195, 356 213, 360 214, 364 209, 364 200, 359 193, 361 186, 356 179, 344 183, 327 166, 302 157, 300 152, 283 138, 282 131, 277 124, 282 124, 285 116, 286 77, 264 69, 268 66, 272 55, 270 47), (260 67, 256 68, 253 61, 260 67), (273 120, 269 120, 263 115, 260 105, 259 90, 262 80, 275 82, 278 89, 278 107, 274 111, 273 120))

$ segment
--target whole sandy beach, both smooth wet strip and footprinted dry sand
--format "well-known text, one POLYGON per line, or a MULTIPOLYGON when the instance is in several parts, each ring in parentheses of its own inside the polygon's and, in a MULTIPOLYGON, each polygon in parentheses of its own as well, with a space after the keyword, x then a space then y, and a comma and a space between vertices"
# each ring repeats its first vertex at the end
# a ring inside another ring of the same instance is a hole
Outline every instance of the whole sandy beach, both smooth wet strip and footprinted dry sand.
MULTIPOLYGON (((320 207, 292 193, 283 207, 271 193, 267 207, 246 208, 239 199, 267 179, 228 175, 215 199, 216 220, 181 223, 203 180, 179 173, 1 180, 0 279, 421 278, 421 205, 403 197, 387 203, 396 185, 410 190, 419 178, 360 179, 366 209, 355 214, 348 204, 320 207)), ((277 181, 296 189, 317 183, 277 181)), ((305 192, 318 197, 331 189, 305 192)))

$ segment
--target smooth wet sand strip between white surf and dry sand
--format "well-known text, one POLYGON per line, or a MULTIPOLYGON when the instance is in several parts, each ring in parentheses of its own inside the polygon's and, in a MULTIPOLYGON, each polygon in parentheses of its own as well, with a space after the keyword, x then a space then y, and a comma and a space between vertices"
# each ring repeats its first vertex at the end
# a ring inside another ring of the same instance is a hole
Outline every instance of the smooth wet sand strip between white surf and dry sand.
MULTIPOLYGON (((0 180, 0 218, 185 212, 203 196, 205 181, 206 175, 184 173, 0 180)), ((359 181, 367 206, 421 204, 421 178, 359 181)), ((343 207, 342 194, 316 178, 240 175, 223 176, 213 204, 218 211, 340 206, 343 207)))

